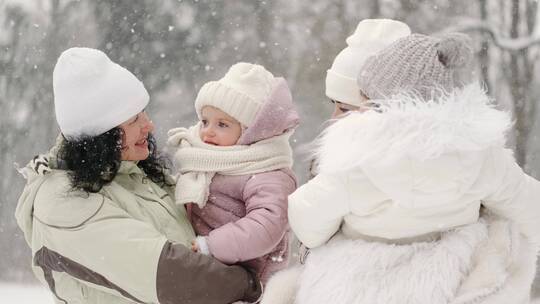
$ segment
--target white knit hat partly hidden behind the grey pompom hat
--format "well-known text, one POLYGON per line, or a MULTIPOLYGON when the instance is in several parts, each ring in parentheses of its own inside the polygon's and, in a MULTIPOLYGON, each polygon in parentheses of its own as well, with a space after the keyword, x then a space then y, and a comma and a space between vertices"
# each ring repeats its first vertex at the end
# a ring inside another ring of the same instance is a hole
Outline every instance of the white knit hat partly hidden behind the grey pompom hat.
POLYGON ((334 59, 326 73, 326 96, 333 100, 360 106, 362 98, 356 77, 365 60, 399 38, 411 34, 409 27, 391 19, 360 21, 354 34, 347 38, 347 47, 334 59))

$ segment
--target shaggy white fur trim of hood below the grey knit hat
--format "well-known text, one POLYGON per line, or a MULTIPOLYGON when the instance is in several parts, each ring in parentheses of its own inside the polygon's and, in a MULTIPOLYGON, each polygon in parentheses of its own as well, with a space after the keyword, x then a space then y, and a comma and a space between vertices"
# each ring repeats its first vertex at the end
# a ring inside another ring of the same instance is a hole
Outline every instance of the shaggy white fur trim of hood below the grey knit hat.
POLYGON ((380 111, 351 113, 323 132, 316 151, 320 171, 502 147, 511 125, 478 83, 427 102, 412 95, 373 102, 380 111))

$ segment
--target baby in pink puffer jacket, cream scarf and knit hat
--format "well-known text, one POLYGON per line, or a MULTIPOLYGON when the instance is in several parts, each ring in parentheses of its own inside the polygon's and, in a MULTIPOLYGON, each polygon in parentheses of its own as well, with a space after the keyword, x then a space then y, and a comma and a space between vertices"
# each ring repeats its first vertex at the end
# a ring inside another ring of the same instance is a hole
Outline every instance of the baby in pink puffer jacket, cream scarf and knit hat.
POLYGON ((176 202, 199 235, 192 249, 243 263, 263 282, 288 262, 287 196, 296 189, 289 138, 298 114, 283 78, 237 63, 197 96, 199 122, 169 131, 176 202))

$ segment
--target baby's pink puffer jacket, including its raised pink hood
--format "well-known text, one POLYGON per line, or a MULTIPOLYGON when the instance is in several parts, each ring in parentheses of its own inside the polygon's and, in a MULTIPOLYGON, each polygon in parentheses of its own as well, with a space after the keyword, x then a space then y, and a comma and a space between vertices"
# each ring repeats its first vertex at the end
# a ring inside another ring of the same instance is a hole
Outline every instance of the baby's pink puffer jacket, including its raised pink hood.
MULTIPOLYGON (((298 121, 286 81, 276 78, 270 98, 239 144, 283 134, 298 121)), ((287 197, 296 186, 290 168, 253 175, 216 174, 204 208, 189 208, 193 227, 198 235, 207 236, 214 257, 227 264, 243 263, 265 282, 288 264, 287 197)))

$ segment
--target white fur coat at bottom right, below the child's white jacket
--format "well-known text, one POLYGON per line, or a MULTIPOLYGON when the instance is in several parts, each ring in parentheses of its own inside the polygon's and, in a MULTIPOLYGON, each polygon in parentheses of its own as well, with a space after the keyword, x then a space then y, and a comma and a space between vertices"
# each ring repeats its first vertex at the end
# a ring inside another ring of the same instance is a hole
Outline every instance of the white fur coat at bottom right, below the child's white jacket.
POLYGON ((261 304, 526 304, 535 264, 517 225, 493 215, 431 242, 338 234, 275 274, 261 304))

